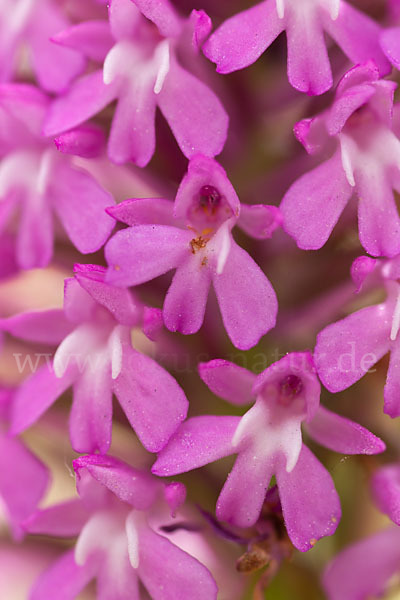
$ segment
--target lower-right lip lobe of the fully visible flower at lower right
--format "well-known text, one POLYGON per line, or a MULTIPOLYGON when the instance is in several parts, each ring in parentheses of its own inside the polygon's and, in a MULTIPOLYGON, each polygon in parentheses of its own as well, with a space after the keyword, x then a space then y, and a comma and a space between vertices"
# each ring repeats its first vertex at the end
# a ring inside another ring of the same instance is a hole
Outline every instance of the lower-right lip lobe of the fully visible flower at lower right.
POLYGON ((279 468, 276 480, 286 529, 298 550, 306 552, 336 531, 341 517, 339 496, 330 474, 306 446, 293 471, 279 468))

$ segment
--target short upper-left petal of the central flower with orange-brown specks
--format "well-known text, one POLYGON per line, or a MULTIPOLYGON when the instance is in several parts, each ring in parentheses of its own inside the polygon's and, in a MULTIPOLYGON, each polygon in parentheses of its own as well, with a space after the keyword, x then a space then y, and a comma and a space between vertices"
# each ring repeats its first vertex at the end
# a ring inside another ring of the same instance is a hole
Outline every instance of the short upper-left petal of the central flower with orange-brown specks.
POLYGON ((176 225, 173 202, 163 198, 132 198, 107 209, 117 221, 126 225, 176 225))

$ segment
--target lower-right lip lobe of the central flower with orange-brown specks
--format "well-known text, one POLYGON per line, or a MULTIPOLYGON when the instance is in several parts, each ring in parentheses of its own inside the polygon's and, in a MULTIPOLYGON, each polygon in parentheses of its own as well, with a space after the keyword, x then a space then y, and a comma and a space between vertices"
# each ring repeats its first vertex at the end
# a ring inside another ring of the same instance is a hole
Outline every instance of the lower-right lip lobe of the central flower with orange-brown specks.
POLYGON ((241 350, 252 348, 276 322, 278 303, 270 282, 232 240, 224 270, 213 283, 229 338, 241 350))

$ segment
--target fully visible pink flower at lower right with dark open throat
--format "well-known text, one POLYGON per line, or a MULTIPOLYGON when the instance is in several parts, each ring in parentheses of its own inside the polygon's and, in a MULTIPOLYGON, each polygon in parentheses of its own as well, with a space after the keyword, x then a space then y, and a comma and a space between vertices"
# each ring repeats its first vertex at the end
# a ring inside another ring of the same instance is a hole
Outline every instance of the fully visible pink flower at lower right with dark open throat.
POLYGON ((240 527, 257 521, 273 475, 292 543, 305 552, 332 535, 340 520, 332 478, 302 443, 301 425, 318 443, 345 454, 376 454, 381 440, 319 406, 311 355, 288 354, 260 375, 223 360, 202 363, 200 376, 235 405, 255 404, 243 417, 188 419, 160 452, 152 471, 169 476, 237 454, 217 501, 217 517, 240 527))

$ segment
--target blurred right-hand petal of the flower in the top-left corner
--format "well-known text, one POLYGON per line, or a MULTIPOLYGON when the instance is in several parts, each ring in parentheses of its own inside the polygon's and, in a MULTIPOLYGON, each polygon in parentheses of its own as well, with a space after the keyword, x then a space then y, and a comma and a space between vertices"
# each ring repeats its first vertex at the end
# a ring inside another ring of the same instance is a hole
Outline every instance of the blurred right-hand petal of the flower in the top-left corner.
POLYGON ((41 87, 51 92, 62 92, 85 67, 78 52, 57 47, 51 36, 65 29, 67 22, 54 3, 42 2, 35 6, 29 32, 33 69, 41 87))

